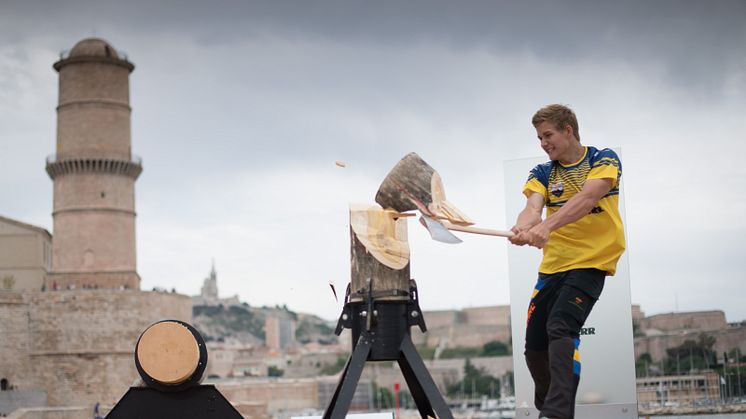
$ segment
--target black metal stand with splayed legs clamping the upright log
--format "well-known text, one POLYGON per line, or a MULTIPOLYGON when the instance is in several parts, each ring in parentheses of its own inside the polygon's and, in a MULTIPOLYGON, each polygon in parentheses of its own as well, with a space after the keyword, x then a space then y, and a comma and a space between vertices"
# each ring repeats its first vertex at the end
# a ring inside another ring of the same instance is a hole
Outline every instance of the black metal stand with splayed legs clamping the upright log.
POLYGON ((368 280, 367 287, 356 292, 363 298, 359 302, 350 302, 350 286, 347 286, 345 306, 335 333, 339 335, 345 327, 352 329, 353 350, 323 418, 342 419, 347 415, 367 361, 397 361, 420 416, 453 419, 412 343, 411 326, 417 325, 423 332, 427 330, 417 300, 417 284, 410 280, 408 292, 392 290, 374 295, 370 282, 368 280), (386 295, 402 294, 408 294, 409 300, 380 300, 386 295))

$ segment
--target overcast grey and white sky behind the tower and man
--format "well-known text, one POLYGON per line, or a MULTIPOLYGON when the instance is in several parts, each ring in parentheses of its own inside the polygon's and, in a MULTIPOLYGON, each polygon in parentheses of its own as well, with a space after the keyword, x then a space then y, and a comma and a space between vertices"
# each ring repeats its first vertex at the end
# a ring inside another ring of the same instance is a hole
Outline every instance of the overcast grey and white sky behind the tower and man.
MULTIPOLYGON (((621 150, 633 303, 746 320, 746 2, 0 0, 0 215, 50 232, 52 64, 88 37, 136 66, 145 290, 198 294, 214 260, 222 297, 336 319, 349 203, 414 151, 509 228, 505 162, 563 103, 621 150)), ((409 222, 423 309, 509 304, 509 244, 461 238, 409 222)))

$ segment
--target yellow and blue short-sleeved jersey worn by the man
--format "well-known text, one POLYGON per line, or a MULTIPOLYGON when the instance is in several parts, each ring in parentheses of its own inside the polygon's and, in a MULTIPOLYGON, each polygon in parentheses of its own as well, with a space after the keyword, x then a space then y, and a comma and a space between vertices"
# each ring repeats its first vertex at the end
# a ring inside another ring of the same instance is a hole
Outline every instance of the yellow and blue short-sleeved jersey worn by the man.
POLYGON ((578 162, 565 166, 558 161, 540 164, 531 170, 523 187, 526 196, 540 193, 547 217, 575 196, 587 179, 612 179, 611 190, 591 212, 553 231, 544 247, 539 272, 553 274, 570 269, 595 268, 614 275, 625 248, 624 226, 619 214, 619 182, 622 163, 608 148, 586 147, 578 162))

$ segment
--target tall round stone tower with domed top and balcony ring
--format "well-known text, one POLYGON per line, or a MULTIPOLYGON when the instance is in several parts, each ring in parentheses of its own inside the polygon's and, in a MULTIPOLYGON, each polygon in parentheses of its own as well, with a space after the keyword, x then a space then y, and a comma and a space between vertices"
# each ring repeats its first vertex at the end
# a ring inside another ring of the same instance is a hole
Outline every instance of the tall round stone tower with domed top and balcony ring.
POLYGON ((129 74, 135 66, 106 41, 78 42, 59 72, 52 273, 47 287, 139 289, 129 74))

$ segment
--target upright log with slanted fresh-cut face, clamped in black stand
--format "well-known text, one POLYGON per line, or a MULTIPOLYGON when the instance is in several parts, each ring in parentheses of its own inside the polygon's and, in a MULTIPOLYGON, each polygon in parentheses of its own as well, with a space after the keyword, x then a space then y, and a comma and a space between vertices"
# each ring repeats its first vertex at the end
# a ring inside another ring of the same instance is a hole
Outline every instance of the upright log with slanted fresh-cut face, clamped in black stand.
POLYGON ((407 218, 377 206, 350 207, 350 301, 408 300, 407 218), (369 282, 370 280, 370 282, 369 282))

